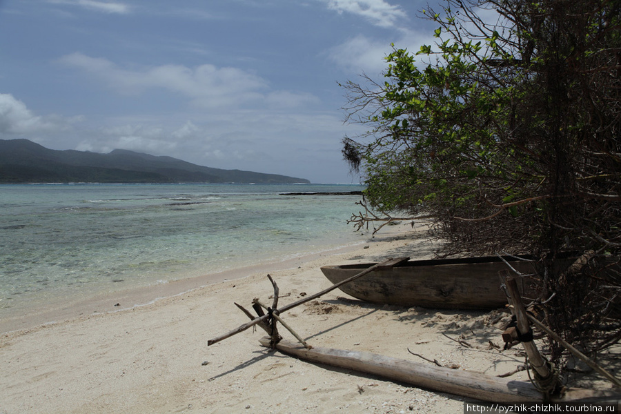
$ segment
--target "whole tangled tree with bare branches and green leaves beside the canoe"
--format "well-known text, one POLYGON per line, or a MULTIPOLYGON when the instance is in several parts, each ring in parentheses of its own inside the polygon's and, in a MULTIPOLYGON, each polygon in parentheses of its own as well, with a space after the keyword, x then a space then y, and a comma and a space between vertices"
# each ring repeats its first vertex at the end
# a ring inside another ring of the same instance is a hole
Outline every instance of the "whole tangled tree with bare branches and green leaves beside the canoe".
POLYGON ((620 12, 618 0, 447 0, 424 11, 435 46, 393 46, 383 83, 344 85, 348 120, 370 127, 343 150, 368 203, 431 215, 442 255, 540 258, 549 324, 593 352, 621 338, 620 12), (566 251, 586 264, 558 266, 566 251))

